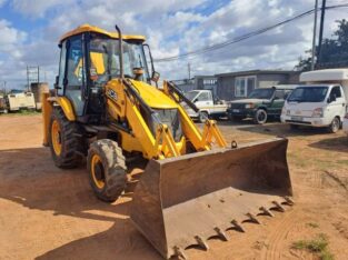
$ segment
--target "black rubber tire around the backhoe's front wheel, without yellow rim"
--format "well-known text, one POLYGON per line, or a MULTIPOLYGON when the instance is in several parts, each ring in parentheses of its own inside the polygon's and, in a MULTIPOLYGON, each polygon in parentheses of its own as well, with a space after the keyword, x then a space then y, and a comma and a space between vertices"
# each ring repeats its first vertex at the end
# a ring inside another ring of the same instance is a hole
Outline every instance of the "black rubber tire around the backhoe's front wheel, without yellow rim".
POLYGON ((87 168, 89 182, 98 199, 113 202, 121 196, 127 184, 127 167, 122 149, 117 142, 110 139, 92 142, 88 150, 87 168), (105 171, 106 180, 102 189, 96 186, 91 173, 91 159, 96 153, 100 157, 105 171))

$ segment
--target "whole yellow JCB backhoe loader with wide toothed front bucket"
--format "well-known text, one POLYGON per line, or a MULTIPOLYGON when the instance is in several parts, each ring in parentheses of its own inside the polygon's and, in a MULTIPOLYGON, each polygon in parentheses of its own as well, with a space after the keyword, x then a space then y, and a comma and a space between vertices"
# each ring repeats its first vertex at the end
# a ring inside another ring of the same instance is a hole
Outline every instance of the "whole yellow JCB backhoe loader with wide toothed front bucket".
POLYGON ((166 259, 292 204, 286 139, 228 144, 208 118, 200 130, 183 109, 196 106, 172 82, 158 87, 145 38, 116 31, 83 24, 60 39, 54 93, 42 108, 57 167, 87 157, 96 196, 115 201, 132 158, 146 160, 130 218, 166 259))

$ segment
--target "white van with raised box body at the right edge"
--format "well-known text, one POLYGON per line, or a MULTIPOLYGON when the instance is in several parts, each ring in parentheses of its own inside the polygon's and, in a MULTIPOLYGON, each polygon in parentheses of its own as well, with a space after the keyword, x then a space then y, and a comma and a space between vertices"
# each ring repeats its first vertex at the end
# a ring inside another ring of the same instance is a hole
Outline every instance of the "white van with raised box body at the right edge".
POLYGON ((347 112, 348 69, 304 72, 297 87, 286 100, 281 122, 298 126, 326 127, 337 132, 347 112))

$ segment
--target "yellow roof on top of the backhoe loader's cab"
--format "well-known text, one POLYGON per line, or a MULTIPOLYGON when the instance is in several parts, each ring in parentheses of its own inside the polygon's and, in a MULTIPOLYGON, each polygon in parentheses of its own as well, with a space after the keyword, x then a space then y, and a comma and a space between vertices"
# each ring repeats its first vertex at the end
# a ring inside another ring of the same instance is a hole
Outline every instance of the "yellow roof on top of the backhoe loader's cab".
MULTIPOLYGON (((105 34, 105 36, 108 36, 108 37, 113 38, 113 39, 119 39, 119 34, 117 32, 110 32, 110 31, 103 30, 99 27, 93 27, 93 26, 90 26, 88 23, 84 23, 84 24, 79 26, 78 28, 64 33, 60 38, 59 42, 62 42, 67 38, 80 34, 82 32, 97 32, 97 33, 105 34)), ((139 40, 139 41, 146 40, 146 38, 143 36, 125 36, 125 34, 122 34, 122 39, 123 40, 139 40)))

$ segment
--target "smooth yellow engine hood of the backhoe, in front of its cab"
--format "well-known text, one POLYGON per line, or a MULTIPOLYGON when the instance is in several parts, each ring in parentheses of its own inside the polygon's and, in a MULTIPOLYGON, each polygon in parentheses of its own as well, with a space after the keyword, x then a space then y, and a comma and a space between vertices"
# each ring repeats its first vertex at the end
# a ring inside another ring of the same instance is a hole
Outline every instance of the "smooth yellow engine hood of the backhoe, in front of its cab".
POLYGON ((130 81, 136 87, 136 90, 138 90, 140 97, 149 107, 157 109, 178 108, 178 104, 173 100, 171 100, 168 96, 166 96, 161 90, 157 89, 156 87, 142 81, 130 81))

